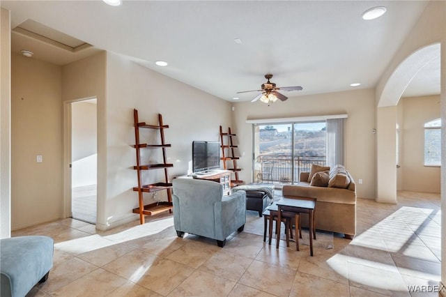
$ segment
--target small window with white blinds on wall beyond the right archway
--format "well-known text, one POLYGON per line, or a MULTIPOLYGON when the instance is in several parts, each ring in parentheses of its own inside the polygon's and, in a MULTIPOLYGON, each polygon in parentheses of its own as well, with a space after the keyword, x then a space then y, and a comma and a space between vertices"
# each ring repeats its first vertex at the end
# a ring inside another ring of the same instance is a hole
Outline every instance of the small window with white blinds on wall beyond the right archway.
POLYGON ((441 164, 441 119, 424 124, 424 166, 441 164))

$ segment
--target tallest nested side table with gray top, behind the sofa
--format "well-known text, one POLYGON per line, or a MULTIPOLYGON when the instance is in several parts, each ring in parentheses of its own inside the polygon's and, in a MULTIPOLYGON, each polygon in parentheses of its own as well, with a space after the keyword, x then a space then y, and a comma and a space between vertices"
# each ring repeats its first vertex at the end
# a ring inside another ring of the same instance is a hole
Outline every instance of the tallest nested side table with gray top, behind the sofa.
MULTIPOLYGON (((316 199, 309 197, 297 197, 297 198, 282 198, 276 202, 277 204, 277 222, 281 222, 282 214, 284 211, 287 213, 308 213, 309 219, 309 251, 313 256, 313 238, 316 239, 316 227, 314 226, 314 208, 316 206, 316 199)), ((297 219, 297 218, 296 218, 297 219)), ((297 220, 296 220, 297 221, 297 220)), ((298 224, 298 222, 296 222, 298 224)), ((279 248, 280 240, 280 224, 277 224, 277 244, 276 248, 279 248)), ((297 233, 298 226, 296 226, 297 233)), ((296 238, 297 240, 298 238, 296 238)), ((296 250, 299 245, 296 243, 296 250)))

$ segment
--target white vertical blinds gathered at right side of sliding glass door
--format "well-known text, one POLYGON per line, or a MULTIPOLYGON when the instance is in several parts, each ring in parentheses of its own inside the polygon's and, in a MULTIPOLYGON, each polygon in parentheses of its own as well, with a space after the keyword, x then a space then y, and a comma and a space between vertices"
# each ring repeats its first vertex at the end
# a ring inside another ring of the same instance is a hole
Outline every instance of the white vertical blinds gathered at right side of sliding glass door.
POLYGON ((345 119, 327 119, 327 166, 345 165, 345 119))

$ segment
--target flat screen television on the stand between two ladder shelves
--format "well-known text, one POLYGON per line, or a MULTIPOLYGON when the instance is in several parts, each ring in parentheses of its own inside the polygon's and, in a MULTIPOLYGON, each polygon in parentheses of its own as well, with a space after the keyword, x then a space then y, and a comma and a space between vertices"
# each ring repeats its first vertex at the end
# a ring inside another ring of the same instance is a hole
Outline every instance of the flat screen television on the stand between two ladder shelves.
POLYGON ((192 172, 220 169, 220 142, 192 142, 192 172))

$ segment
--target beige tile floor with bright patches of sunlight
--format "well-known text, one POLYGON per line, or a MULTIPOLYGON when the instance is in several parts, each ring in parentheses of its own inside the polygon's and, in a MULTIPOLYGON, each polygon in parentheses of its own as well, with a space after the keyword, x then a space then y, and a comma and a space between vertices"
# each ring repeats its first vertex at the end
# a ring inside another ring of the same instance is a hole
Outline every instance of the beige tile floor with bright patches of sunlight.
MULTIPOLYGON (((357 201, 357 236, 334 248, 279 249, 242 232, 178 238, 171 215, 109 231, 56 220, 13 232, 52 236, 54 267, 28 296, 429 296, 440 281, 440 197, 399 192, 398 205, 357 201), (424 287, 426 288, 426 287, 424 287)), ((432 293, 431 296, 438 296, 432 293)))

